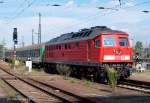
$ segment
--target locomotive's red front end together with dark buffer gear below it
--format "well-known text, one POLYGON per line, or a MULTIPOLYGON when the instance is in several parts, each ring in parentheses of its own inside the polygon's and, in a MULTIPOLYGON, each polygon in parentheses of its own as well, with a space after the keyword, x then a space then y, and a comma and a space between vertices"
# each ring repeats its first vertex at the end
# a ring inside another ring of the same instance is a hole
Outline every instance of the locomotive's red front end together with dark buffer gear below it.
POLYGON ((130 75, 132 64, 132 48, 128 34, 103 34, 101 36, 101 63, 104 66, 111 66, 119 73, 119 77, 130 75))

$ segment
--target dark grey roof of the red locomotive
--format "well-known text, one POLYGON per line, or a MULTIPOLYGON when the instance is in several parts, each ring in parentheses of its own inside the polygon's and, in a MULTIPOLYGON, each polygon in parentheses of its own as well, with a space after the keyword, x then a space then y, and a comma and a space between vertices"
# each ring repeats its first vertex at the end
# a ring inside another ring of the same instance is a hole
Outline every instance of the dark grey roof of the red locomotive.
POLYGON ((127 34, 122 31, 112 30, 110 28, 107 28, 106 26, 95 26, 95 27, 91 27, 90 29, 86 29, 86 28, 81 29, 78 32, 62 34, 59 37, 56 37, 48 41, 46 45, 92 39, 95 36, 100 35, 101 33, 103 34, 110 34, 110 33, 127 34))

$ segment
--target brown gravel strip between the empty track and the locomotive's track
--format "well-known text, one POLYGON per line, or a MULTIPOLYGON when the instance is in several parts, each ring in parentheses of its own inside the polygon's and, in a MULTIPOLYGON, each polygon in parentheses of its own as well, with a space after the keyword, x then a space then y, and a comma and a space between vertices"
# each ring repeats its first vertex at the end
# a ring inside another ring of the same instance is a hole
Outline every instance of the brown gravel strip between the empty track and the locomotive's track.
MULTIPOLYGON (((8 68, 7 64, 4 64, 8 68)), ((64 79, 63 76, 43 73, 40 75, 27 74, 35 80, 42 81, 59 89, 89 98, 97 103, 150 103, 150 95, 133 90, 116 88, 112 89, 108 85, 89 82, 87 80, 78 80, 75 78, 64 79)), ((134 76, 134 75, 133 75, 134 76)))

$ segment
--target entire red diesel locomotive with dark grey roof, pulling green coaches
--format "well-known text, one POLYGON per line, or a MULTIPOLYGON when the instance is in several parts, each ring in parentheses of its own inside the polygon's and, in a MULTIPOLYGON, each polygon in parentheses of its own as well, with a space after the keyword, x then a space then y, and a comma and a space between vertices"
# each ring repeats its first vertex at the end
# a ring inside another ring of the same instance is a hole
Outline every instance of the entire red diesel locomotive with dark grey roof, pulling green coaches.
POLYGON ((129 35, 106 26, 63 34, 46 43, 44 64, 66 64, 72 73, 105 80, 106 69, 113 67, 118 77, 130 76, 132 47, 129 35))

